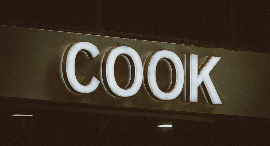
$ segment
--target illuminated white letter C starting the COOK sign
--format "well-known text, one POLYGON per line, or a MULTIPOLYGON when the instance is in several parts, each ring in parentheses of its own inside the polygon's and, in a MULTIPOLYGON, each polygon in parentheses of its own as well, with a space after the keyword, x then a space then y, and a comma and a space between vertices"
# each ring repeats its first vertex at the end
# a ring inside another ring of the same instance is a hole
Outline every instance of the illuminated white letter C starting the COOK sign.
POLYGON ((100 52, 97 47, 90 42, 73 42, 64 52, 62 60, 62 75, 64 82, 71 91, 85 94, 95 91, 100 81, 94 76, 88 77, 86 83, 83 85, 77 81, 75 75, 75 58, 79 51, 84 51, 88 59, 89 55, 95 58, 100 52))

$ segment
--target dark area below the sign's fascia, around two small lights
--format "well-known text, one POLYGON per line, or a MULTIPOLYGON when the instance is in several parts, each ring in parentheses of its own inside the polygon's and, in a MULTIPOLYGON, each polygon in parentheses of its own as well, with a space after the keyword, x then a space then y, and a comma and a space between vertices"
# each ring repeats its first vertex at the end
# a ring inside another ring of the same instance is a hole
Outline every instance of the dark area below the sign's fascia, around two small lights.
POLYGON ((269 145, 269 122, 215 122, 16 108, 0 112, 0 145, 269 145), (31 117, 14 117, 31 113, 31 117), (158 125, 170 124, 162 128, 158 125))

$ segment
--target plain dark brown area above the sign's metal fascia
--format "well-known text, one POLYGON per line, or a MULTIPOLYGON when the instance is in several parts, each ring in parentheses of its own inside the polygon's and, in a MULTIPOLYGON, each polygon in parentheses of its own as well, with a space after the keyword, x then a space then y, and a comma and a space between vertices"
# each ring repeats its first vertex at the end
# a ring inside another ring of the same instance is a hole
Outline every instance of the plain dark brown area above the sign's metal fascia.
POLYGON ((269 49, 269 0, 12 0, 0 6, 2 21, 269 49))

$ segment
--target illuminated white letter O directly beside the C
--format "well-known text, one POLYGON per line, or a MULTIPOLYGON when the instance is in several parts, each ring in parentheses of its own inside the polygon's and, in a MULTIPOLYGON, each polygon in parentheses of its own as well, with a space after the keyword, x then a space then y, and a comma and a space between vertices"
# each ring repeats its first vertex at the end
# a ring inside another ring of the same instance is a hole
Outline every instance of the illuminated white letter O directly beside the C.
POLYGON ((112 47, 108 49, 102 60, 102 80, 106 90, 116 97, 129 97, 136 94, 143 79, 142 60, 139 54, 128 46, 112 47), (114 63, 119 55, 128 58, 131 65, 131 79, 127 87, 120 88, 114 77, 114 63))

